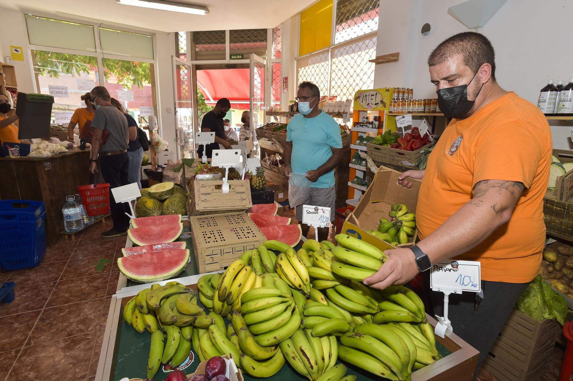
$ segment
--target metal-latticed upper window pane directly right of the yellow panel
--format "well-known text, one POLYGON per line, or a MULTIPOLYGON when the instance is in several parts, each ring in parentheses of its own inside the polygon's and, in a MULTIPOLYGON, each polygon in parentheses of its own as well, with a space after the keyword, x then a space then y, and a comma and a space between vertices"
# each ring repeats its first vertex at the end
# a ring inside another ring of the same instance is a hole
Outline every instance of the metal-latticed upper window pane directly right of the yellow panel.
POLYGON ((334 43, 378 30, 380 0, 336 0, 334 43))

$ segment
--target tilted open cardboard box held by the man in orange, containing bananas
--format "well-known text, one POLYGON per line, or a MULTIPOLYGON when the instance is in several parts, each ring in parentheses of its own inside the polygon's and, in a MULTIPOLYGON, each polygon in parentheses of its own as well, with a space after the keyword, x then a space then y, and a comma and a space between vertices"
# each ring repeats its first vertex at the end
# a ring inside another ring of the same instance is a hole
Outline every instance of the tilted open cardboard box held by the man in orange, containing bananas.
MULTIPOLYGON (((350 213, 342 225, 342 233, 358 237, 379 249, 387 250, 395 248, 393 245, 368 234, 367 230, 378 229, 381 218, 388 218, 388 212, 393 204, 406 204, 409 212, 416 211, 418 192, 422 182, 411 179, 412 188, 407 189, 398 184, 400 172, 394 169, 380 166, 374 176, 374 180, 364 196, 356 205, 354 212, 350 213)), ((414 236, 410 237, 410 243, 398 245, 400 247, 413 245, 418 235, 418 229, 414 236)))

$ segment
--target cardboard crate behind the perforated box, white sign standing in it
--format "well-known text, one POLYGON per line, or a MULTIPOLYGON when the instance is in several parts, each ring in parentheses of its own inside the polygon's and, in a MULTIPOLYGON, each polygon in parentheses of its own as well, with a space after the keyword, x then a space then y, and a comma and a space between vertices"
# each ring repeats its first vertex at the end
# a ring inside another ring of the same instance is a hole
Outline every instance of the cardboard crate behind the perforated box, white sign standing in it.
POLYGON ((223 180, 191 182, 187 198, 189 216, 246 211, 253 206, 249 180, 229 180, 229 193, 223 193, 223 180))

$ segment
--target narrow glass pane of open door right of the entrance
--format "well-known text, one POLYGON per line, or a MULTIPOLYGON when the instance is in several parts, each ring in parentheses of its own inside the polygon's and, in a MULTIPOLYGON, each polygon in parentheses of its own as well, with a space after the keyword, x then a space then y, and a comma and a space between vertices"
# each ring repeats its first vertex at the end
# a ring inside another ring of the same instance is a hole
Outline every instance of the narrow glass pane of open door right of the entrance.
MULTIPOLYGON (((253 144, 257 138, 254 130, 265 123, 265 75, 266 62, 256 54, 250 55, 250 129, 253 135, 253 144)), ((258 145, 255 148, 255 157, 258 155, 258 145)))

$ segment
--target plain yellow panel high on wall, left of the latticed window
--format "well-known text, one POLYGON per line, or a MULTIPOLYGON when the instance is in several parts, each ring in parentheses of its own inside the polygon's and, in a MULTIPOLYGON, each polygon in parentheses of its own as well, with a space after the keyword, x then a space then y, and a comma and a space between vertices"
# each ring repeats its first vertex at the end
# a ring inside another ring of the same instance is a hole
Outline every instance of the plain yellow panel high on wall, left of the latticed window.
POLYGON ((320 0, 300 13, 299 54, 324 49, 332 40, 332 0, 320 0))

